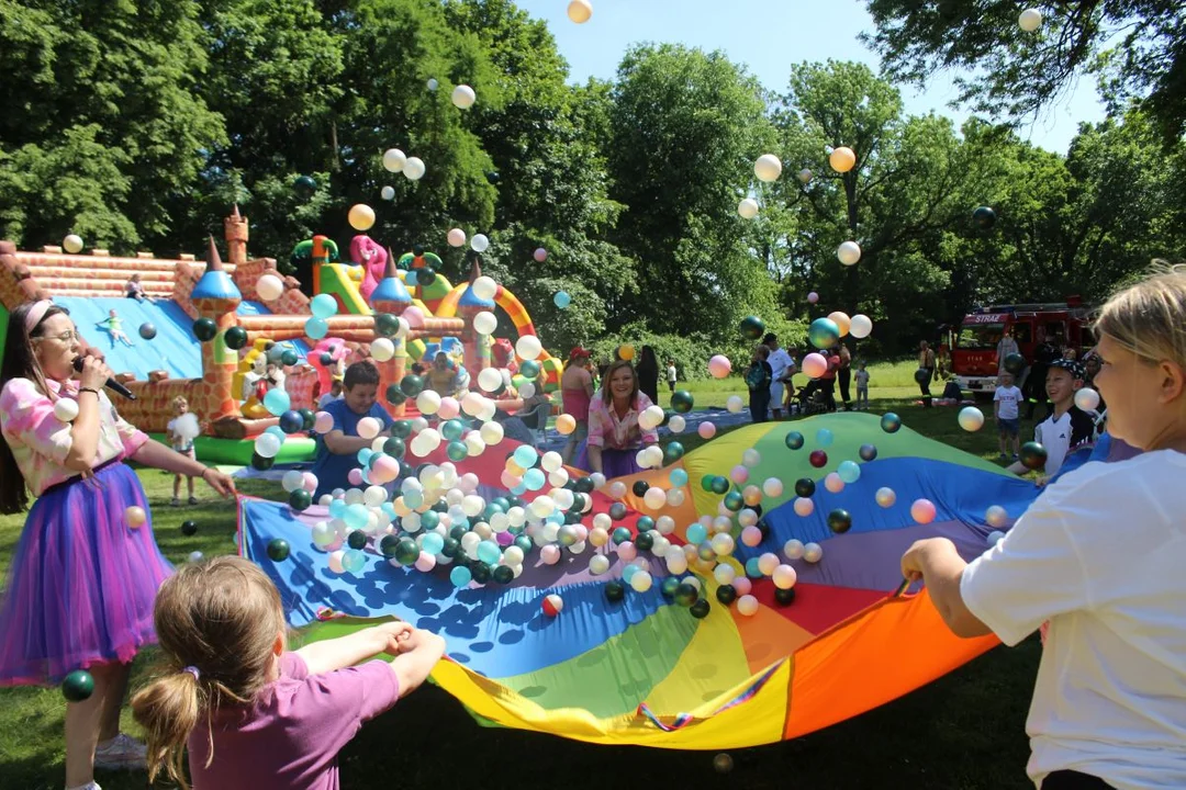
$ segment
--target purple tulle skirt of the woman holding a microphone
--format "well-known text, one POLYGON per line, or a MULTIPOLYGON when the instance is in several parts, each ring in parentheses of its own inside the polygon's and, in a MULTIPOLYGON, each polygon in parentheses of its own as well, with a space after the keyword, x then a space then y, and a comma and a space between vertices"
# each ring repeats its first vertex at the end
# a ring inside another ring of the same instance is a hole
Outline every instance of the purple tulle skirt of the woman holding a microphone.
POLYGON ((132 661, 157 641, 153 600, 173 566, 153 540, 152 515, 122 462, 45 492, 28 512, 0 593, 0 686, 53 685, 91 664, 132 661))

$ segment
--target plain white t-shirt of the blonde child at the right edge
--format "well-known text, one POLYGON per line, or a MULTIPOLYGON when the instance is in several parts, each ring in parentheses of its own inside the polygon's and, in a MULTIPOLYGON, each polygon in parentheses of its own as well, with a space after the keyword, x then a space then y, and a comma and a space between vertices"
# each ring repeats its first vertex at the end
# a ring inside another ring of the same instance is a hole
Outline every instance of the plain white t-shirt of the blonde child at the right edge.
POLYGON ((1088 463, 969 565, 964 604, 1006 644, 1050 622, 1027 771, 1186 788, 1186 455, 1088 463))

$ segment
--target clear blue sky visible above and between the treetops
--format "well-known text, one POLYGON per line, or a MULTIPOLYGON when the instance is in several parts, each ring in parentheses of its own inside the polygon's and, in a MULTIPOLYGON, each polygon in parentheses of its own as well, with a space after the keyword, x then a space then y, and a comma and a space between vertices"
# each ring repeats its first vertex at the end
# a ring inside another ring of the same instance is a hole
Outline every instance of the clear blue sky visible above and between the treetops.
MULTIPOLYGON (((875 71, 880 58, 856 36, 872 30, 863 0, 592 0, 593 18, 569 21, 568 0, 518 0, 533 17, 544 19, 556 37, 576 82, 612 79, 626 49, 642 41, 672 43, 723 50, 744 63, 761 83, 784 90, 790 68, 804 60, 857 60, 875 71)), ((1019 13, 1024 6, 1018 5, 1019 13)), ((962 122, 963 109, 946 104, 956 96, 940 75, 925 91, 903 88, 906 111, 936 110, 962 122)), ((1046 108, 1020 134, 1048 150, 1066 153, 1080 122, 1096 122, 1104 111, 1090 78, 1080 81, 1058 104, 1046 108)))

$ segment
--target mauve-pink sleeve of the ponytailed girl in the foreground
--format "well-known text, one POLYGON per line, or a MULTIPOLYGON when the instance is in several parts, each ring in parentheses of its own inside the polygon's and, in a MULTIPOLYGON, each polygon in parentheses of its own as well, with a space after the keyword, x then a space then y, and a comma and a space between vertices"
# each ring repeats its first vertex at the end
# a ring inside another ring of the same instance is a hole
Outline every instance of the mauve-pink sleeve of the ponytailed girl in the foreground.
MULTIPOLYGON (((295 654, 286 654, 293 655, 295 654)), ((292 698, 291 720, 299 721, 306 747, 337 754, 366 721, 389 709, 400 699, 400 681, 385 661, 368 661, 357 667, 308 675, 292 698)), ((283 667, 283 664, 281 664, 283 667)), ((299 677, 296 673, 289 675, 299 677)))

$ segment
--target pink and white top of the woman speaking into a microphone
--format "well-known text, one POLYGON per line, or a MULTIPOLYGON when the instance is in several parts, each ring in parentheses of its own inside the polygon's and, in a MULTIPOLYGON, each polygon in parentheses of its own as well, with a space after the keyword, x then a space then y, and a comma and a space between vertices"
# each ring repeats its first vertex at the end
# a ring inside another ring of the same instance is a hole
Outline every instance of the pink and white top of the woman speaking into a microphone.
MULTIPOLYGON (((78 400, 77 381, 59 385, 49 380, 45 384, 59 399, 78 400)), ((55 416, 53 403, 30 379, 13 379, 0 391, 0 433, 8 443, 33 496, 40 496, 50 486, 78 476, 76 469, 63 465, 74 437, 70 423, 63 423, 55 416)), ((147 441, 148 435, 120 417, 107 393, 100 391, 98 445, 91 467, 135 455, 147 441)))

